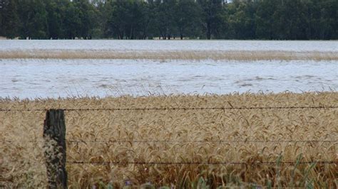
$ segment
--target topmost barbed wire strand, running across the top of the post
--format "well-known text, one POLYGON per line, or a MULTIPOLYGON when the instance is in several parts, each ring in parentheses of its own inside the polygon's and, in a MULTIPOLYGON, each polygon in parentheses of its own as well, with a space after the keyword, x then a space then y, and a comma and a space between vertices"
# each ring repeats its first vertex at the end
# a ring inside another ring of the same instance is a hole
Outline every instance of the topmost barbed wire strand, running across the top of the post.
MULTIPOLYGON (((145 110, 227 110, 227 109, 337 109, 338 106, 317 107, 169 107, 169 108, 98 108, 98 109, 62 109, 63 111, 145 111, 145 110)), ((43 112, 49 109, 0 109, 0 112, 43 112)))

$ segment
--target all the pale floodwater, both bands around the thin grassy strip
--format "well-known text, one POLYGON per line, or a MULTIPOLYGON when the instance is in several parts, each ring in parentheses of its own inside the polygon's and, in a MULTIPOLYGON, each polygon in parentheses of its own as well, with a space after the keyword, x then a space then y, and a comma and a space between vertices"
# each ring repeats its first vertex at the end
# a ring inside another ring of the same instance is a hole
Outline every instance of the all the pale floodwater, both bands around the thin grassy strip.
MULTIPOLYGON (((287 50, 337 52, 336 41, 0 41, 11 50, 287 50)), ((1 97, 336 91, 338 62, 314 60, 0 59, 1 97)))

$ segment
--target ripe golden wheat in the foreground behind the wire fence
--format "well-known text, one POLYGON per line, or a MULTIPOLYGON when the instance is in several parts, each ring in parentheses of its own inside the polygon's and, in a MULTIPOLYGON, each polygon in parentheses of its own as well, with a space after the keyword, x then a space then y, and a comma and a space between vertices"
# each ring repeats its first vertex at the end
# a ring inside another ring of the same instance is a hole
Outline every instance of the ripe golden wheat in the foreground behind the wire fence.
MULTIPOLYGON (((119 97, 105 99, 0 100, 1 109, 125 107, 337 106, 337 92, 277 95, 119 97)), ((0 184, 44 187, 42 125, 45 112, 0 112, 0 184)), ((336 140, 338 109, 233 109, 66 112, 68 161, 296 162, 336 161, 337 142, 252 143, 214 141, 336 140), (114 140, 170 140, 172 143, 111 143, 114 140), (201 143, 180 141, 204 141, 201 143), (278 158, 281 158, 278 160, 278 158)), ((74 165, 71 188, 98 183, 116 187, 155 183, 176 188, 262 185, 337 188, 337 163, 287 165, 74 165), (199 183, 200 184, 200 183, 199 183)))

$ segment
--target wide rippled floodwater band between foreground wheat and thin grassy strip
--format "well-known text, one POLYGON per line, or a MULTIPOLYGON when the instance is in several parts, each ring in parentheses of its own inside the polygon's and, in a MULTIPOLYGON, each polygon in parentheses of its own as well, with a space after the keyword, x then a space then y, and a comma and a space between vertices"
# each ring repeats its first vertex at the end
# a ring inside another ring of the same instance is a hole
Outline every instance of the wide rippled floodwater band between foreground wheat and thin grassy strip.
POLYGON ((338 89, 336 62, 0 60, 0 97, 304 92, 338 89))

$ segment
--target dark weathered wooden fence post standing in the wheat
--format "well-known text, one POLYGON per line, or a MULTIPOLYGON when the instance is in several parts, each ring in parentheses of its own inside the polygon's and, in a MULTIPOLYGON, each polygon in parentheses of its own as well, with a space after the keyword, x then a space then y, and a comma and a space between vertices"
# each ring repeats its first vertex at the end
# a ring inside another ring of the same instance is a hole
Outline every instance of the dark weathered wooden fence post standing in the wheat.
POLYGON ((48 188, 67 188, 66 124, 63 109, 46 112, 43 124, 48 188))

